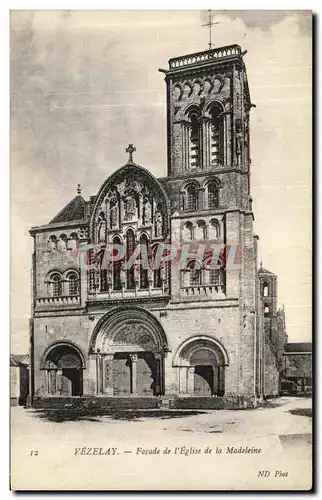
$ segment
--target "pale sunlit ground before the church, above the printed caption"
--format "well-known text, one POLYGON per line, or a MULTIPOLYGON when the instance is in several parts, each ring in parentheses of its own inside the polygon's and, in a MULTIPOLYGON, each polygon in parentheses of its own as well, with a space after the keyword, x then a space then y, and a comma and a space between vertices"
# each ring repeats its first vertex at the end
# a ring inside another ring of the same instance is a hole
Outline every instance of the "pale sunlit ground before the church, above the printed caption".
POLYGON ((311 398, 282 397, 271 400, 267 407, 255 410, 134 410, 93 411, 86 415, 76 412, 39 411, 13 407, 12 427, 25 435, 46 430, 60 433, 87 432, 102 427, 111 432, 132 435, 156 432, 169 437, 181 432, 247 435, 248 438, 284 434, 311 434, 311 398), (103 413, 103 414, 102 414, 103 413))

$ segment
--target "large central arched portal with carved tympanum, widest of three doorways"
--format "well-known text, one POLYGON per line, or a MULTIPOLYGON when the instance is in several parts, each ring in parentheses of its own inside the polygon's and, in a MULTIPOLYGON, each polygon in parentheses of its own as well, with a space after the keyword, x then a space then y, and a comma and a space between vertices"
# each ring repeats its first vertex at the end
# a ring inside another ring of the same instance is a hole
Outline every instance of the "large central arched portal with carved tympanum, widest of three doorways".
POLYGON ((117 308, 96 326, 90 345, 96 392, 159 396, 164 392, 167 339, 158 320, 141 308, 117 308))

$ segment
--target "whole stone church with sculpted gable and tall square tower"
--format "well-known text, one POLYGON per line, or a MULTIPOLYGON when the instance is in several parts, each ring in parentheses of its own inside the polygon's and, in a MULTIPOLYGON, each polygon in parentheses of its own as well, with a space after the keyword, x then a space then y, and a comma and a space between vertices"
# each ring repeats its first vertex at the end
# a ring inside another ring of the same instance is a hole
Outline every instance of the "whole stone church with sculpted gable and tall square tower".
POLYGON ((285 315, 257 263, 244 55, 230 45, 160 70, 166 177, 129 145, 96 194, 79 186, 30 230, 31 404, 254 407, 278 394, 285 315), (146 265, 127 265, 138 248, 146 265))

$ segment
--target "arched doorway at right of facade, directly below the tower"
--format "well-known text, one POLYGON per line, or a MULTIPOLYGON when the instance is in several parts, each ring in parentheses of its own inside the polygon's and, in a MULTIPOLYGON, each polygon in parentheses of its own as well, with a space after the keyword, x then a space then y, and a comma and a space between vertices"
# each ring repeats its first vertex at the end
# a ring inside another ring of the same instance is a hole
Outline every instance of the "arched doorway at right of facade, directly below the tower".
POLYGON ((228 364, 227 353, 216 339, 208 336, 187 339, 173 359, 179 371, 179 394, 223 396, 228 364))

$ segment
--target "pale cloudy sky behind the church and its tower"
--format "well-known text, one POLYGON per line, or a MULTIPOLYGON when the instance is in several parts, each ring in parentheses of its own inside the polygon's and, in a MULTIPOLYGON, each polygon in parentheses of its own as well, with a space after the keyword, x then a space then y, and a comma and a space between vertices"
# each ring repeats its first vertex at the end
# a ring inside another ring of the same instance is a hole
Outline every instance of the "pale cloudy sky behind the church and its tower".
MULTIPOLYGON (((259 258, 278 276, 289 340, 311 340, 312 51, 309 11, 213 11, 239 44, 250 94, 259 258)), ((206 11, 12 11, 11 351, 28 350, 32 226, 89 199, 127 160, 166 175, 168 60, 208 46, 206 11)))

